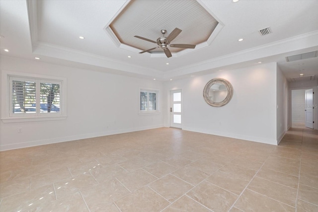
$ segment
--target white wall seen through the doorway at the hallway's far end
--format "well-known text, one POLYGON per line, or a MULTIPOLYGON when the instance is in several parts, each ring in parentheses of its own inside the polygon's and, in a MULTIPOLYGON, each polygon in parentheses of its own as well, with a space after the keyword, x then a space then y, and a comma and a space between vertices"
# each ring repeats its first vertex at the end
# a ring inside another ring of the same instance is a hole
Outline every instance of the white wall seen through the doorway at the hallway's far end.
POLYGON ((305 89, 292 90, 292 122, 305 124, 305 89))

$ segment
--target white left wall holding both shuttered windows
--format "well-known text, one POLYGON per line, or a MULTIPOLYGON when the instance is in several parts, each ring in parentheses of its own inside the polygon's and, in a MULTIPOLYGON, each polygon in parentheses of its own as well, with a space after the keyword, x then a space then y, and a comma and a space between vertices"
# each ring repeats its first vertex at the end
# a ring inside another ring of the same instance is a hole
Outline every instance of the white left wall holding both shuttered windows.
POLYGON ((0 150, 163 127, 161 113, 139 115, 139 88, 162 82, 1 56, 0 70, 67 78, 66 120, 3 123, 0 150), (17 129, 22 128, 22 133, 17 129))

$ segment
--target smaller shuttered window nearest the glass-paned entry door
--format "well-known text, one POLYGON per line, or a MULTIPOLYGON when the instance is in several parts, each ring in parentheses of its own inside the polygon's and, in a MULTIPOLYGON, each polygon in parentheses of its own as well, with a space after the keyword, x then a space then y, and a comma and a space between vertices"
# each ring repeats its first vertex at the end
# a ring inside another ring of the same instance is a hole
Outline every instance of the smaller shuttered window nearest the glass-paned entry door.
POLYGON ((158 90, 140 89, 140 112, 159 112, 158 90))

